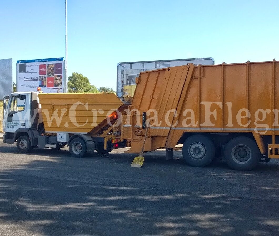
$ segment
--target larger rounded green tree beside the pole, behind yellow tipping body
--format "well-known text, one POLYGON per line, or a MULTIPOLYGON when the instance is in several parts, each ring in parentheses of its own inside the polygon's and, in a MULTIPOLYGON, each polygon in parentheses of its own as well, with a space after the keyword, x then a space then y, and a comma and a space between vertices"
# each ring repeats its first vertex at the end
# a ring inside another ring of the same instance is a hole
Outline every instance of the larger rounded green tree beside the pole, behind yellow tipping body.
POLYGON ((82 74, 73 72, 68 77, 68 92, 69 93, 99 93, 95 85, 91 85, 89 79, 82 74))

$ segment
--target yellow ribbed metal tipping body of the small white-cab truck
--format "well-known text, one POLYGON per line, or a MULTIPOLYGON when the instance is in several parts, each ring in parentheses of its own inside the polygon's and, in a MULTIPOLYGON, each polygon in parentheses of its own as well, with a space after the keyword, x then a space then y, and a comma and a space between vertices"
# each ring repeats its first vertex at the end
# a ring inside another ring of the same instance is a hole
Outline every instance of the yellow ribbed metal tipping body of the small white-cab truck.
POLYGON ((46 132, 88 133, 101 122, 104 124, 103 121, 112 114, 112 109, 123 105, 113 93, 54 93, 38 96, 46 132), (95 120, 93 114, 97 114, 95 120))

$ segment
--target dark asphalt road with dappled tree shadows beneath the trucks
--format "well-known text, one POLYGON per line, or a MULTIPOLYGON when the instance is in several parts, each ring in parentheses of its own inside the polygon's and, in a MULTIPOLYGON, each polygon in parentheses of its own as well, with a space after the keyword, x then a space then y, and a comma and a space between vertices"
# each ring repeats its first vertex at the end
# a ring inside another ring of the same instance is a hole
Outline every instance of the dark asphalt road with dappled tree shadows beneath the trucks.
POLYGON ((0 235, 279 235, 278 160, 241 172, 174 155, 131 168, 123 149, 79 159, 1 142, 0 235))

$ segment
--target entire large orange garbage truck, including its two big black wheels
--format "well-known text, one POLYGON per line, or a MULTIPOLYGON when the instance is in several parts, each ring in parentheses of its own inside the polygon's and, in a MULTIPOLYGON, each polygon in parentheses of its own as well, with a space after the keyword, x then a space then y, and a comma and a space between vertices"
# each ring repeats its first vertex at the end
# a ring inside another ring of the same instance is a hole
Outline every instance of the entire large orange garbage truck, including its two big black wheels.
POLYGON ((165 148, 168 160, 183 144, 191 166, 222 155, 237 170, 279 157, 279 61, 187 64, 142 72, 136 83, 122 115, 127 152, 165 148))

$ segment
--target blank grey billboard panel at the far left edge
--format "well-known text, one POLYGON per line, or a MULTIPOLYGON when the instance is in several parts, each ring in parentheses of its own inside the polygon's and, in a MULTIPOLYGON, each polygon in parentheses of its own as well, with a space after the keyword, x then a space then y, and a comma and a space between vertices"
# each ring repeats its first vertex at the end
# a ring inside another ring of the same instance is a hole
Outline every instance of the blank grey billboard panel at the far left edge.
POLYGON ((13 92, 12 59, 0 60, 0 100, 13 92))

